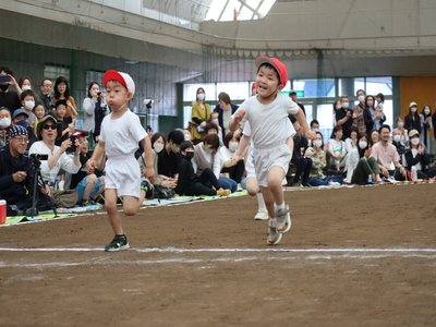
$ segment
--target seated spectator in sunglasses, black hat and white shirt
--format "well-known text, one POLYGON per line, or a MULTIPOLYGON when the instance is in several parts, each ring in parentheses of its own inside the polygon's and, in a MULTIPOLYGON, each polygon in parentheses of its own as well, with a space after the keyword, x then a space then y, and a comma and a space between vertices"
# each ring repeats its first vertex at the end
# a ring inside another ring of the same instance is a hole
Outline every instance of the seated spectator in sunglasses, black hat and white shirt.
POLYGON ((66 149, 71 147, 72 142, 66 138, 60 146, 55 144, 58 135, 61 135, 61 126, 57 124, 57 119, 50 114, 44 117, 36 128, 38 142, 35 142, 31 148, 29 154, 48 155, 48 160, 41 164, 41 175, 45 182, 50 185, 55 184, 59 171, 63 169, 70 173, 76 173, 81 169, 80 161, 80 147, 76 140, 75 152, 73 157, 66 155, 66 149))

